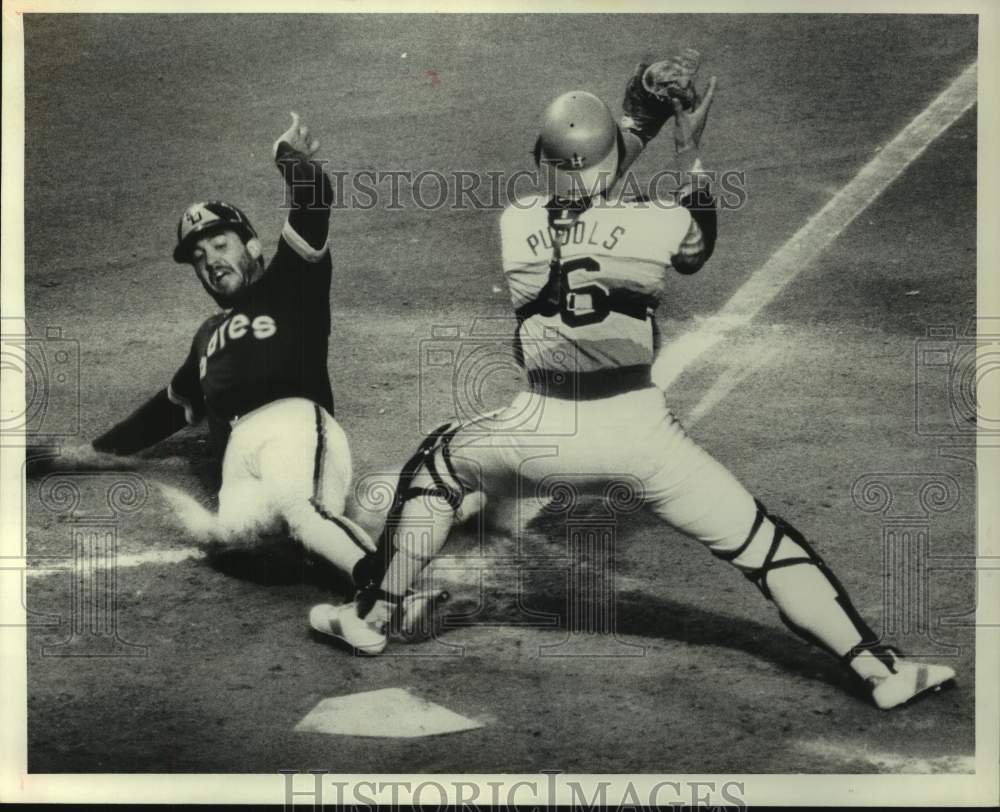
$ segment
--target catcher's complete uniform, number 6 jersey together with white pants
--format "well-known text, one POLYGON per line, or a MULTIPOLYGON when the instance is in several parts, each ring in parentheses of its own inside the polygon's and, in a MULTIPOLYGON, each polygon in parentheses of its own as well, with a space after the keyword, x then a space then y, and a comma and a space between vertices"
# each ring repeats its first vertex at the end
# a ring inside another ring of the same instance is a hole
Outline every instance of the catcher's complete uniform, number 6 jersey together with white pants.
POLYGON ((645 384, 630 377, 652 364, 650 314, 672 263, 693 270, 708 253, 690 211, 616 201, 574 220, 538 197, 508 207, 500 229, 529 379, 542 373, 551 382, 558 376, 544 373, 561 371, 588 386, 575 394, 552 386, 525 391, 489 420, 463 426, 448 457, 456 481, 466 491, 548 500, 553 482, 601 495, 627 475, 674 527, 713 551, 738 547, 756 514, 753 497, 685 434, 648 375, 645 384), (622 386, 603 386, 616 378, 622 386), (589 394, 577 398, 584 389, 589 394))

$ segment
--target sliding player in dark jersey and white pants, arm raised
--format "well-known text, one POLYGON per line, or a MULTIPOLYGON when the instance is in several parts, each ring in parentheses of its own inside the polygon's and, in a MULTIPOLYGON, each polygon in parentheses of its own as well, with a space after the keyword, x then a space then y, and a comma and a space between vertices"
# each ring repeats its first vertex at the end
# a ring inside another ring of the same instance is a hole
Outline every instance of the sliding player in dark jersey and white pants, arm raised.
POLYGON ((92 443, 64 450, 61 461, 103 465, 107 455, 134 454, 207 419, 224 451, 218 513, 164 489, 191 533, 227 543, 284 524, 349 573, 375 545, 343 515, 351 452, 333 418, 327 370, 333 190, 313 160, 318 148, 292 113, 273 148, 291 207, 270 262, 236 206, 207 201, 185 210, 173 258, 194 269, 219 312, 163 389, 92 443))

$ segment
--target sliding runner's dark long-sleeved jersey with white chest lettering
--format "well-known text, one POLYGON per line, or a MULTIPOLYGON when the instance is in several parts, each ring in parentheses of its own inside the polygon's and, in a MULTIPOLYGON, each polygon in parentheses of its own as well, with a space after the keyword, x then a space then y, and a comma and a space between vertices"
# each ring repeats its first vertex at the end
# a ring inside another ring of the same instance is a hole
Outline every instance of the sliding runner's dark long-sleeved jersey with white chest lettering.
POLYGON ((328 245, 333 190, 322 167, 282 142, 275 160, 291 211, 263 275, 205 320, 169 386, 100 437, 99 451, 131 454, 208 417, 221 450, 230 421, 280 398, 333 413, 328 245))

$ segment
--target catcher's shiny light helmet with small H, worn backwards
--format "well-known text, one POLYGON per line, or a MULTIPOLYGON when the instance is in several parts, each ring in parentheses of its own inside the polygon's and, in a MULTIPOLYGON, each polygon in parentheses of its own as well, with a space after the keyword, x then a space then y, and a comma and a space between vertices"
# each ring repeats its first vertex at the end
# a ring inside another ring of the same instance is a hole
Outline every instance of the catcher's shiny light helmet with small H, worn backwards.
POLYGON ((535 162, 552 167, 559 197, 598 194, 614 181, 624 149, 607 105, 593 93, 571 90, 549 105, 535 142, 535 162))

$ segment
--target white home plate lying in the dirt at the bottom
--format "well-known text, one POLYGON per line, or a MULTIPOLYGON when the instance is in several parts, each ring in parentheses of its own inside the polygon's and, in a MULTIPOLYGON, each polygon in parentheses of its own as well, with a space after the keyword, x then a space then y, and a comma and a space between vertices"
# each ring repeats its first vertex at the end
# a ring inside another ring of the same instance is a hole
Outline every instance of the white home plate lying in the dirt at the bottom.
POLYGON ((295 731, 414 739, 482 726, 474 719, 414 696, 405 688, 383 688, 324 699, 295 726, 295 731))

